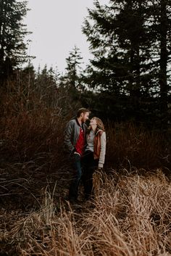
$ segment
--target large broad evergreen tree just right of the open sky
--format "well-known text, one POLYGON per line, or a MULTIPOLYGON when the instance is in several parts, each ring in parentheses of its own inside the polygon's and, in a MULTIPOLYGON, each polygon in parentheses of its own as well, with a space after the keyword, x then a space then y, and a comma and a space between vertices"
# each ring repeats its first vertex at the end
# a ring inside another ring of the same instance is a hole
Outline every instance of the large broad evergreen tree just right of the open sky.
POLYGON ((139 95, 141 90, 141 66, 146 61, 144 44, 148 37, 143 28, 144 1, 109 1, 101 6, 95 1, 95 9, 88 9, 83 33, 90 41, 94 55, 91 61, 97 86, 120 95, 139 95), (142 50, 143 48, 143 50, 142 50), (102 79, 101 79, 102 78, 102 79), (101 83, 102 81, 102 83, 101 83))

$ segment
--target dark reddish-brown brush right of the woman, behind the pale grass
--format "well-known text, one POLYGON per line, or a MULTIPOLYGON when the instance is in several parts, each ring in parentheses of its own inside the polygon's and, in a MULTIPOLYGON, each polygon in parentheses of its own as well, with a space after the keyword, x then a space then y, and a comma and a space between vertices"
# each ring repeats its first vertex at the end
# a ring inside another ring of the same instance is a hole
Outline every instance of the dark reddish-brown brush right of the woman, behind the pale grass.
POLYGON ((107 166, 170 168, 170 133, 149 131, 133 123, 107 125, 107 166))

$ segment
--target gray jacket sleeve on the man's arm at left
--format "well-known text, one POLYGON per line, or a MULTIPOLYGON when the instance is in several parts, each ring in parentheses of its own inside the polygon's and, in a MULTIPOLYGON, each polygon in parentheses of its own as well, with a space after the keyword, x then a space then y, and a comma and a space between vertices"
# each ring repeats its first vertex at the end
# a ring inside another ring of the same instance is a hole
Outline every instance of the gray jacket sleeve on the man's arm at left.
POLYGON ((67 152, 72 152, 75 147, 72 145, 72 136, 74 130, 74 123, 72 121, 68 122, 66 125, 66 128, 64 130, 64 149, 67 150, 67 152))

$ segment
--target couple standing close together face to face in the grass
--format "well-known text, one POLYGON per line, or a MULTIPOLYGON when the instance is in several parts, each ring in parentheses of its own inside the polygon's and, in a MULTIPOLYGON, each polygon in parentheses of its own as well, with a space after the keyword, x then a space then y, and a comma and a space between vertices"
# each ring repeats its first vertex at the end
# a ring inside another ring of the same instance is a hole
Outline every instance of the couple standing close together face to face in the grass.
POLYGON ((98 117, 92 117, 87 127, 90 110, 81 108, 77 116, 70 120, 64 131, 64 148, 70 164, 72 178, 70 181, 69 201, 78 202, 78 188, 83 181, 85 199, 93 193, 93 173, 102 169, 106 153, 106 133, 104 124, 98 117))

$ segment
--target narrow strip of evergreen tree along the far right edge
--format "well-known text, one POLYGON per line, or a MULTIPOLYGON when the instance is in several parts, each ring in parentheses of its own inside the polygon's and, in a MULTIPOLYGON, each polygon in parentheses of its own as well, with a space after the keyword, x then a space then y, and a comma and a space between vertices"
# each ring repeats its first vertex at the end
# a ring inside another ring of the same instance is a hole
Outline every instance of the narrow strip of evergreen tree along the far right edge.
POLYGON ((154 44, 151 44, 151 59, 154 65, 155 80, 159 85, 160 110, 166 117, 170 91, 168 78, 171 62, 171 1, 156 0, 149 6, 149 12, 151 14, 149 27, 155 38, 154 44))

